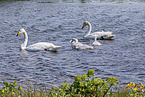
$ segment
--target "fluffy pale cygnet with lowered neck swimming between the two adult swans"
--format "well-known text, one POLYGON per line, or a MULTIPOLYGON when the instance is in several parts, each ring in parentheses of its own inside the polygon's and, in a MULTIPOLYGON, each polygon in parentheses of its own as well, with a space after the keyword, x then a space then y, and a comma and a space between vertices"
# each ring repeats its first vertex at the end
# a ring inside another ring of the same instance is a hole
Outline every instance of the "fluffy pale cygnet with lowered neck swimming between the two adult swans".
POLYGON ((87 50, 87 49, 92 50, 93 49, 92 46, 88 46, 88 45, 85 45, 85 44, 78 42, 78 39, 76 39, 76 38, 73 38, 70 41, 70 43, 72 45, 72 48, 74 48, 74 49, 82 49, 82 50, 87 50))

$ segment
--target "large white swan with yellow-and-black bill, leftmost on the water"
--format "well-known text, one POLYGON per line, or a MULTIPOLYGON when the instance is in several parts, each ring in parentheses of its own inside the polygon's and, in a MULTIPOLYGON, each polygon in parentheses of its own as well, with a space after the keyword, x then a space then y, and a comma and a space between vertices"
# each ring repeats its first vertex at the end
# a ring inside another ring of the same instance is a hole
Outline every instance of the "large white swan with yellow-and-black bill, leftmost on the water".
POLYGON ((24 34, 24 37, 25 37, 24 43, 21 44, 22 50, 27 50, 27 51, 42 51, 42 50, 56 51, 58 48, 61 47, 61 46, 55 46, 54 44, 48 43, 48 42, 39 42, 39 43, 35 43, 35 44, 27 46, 28 35, 23 28, 19 30, 17 36, 20 35, 21 33, 24 34))

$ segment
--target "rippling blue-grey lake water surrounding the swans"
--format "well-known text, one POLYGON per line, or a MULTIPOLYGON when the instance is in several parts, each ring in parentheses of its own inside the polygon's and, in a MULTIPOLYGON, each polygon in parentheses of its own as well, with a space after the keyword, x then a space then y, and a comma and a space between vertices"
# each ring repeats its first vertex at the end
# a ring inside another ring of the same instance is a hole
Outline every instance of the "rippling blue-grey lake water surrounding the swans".
MULTIPOLYGON (((38 0, 39 1, 39 0, 38 0)), ((144 2, 0 2, 0 85, 2 79, 34 85, 60 85, 72 82, 78 74, 95 70, 95 77, 116 77, 122 84, 145 84, 145 3, 144 2), (92 31, 112 31, 113 40, 98 40, 102 46, 94 50, 74 50, 72 38, 84 40, 87 27, 92 31), (29 35, 28 45, 52 42, 62 46, 58 52, 22 52, 23 35, 29 35)))

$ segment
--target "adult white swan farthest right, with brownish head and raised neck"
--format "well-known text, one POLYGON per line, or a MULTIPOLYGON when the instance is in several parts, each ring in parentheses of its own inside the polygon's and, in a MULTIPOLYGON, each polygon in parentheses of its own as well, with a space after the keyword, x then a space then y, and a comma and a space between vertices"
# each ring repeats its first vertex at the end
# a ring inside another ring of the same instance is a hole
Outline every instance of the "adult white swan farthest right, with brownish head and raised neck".
POLYGON ((87 35, 84 36, 84 38, 86 39, 94 39, 95 35, 97 35, 97 39, 112 39, 113 37, 115 37, 115 35, 111 35, 112 32, 104 32, 103 30, 102 32, 91 33, 92 26, 88 21, 85 21, 83 23, 82 29, 87 25, 88 25, 88 32, 87 32, 87 35))

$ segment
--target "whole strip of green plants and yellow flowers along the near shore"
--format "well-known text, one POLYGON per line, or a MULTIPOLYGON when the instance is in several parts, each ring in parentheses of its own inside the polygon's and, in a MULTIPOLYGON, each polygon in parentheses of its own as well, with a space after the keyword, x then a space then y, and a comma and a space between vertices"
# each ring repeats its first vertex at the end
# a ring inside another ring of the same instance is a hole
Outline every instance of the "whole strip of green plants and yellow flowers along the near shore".
POLYGON ((118 87, 119 81, 115 77, 105 80, 94 78, 95 71, 89 69, 87 74, 77 75, 73 83, 62 83, 60 87, 47 89, 35 88, 31 84, 18 85, 14 82, 3 82, 1 97, 145 97, 145 87, 142 83, 128 83, 125 87, 118 87))

